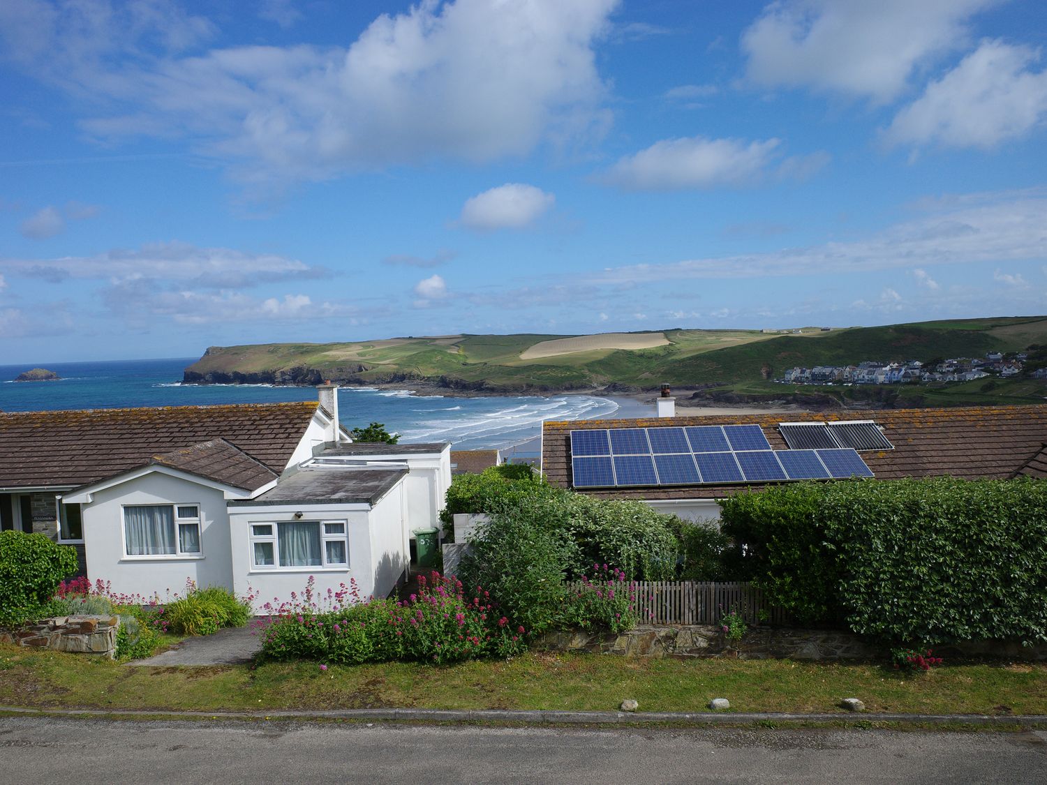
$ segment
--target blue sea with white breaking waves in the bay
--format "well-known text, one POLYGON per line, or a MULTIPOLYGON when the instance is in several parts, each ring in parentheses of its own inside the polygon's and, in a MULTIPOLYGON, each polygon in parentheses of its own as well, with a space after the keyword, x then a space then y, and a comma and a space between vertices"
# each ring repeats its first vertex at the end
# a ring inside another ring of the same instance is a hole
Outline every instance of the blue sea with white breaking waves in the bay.
MULTIPOLYGON (((312 387, 271 384, 182 384, 182 369, 198 358, 41 363, 57 382, 15 382, 30 365, 0 365, 0 410, 107 409, 226 403, 312 401, 312 387)), ((401 442, 450 442, 454 449, 500 449, 507 457, 537 454, 543 420, 649 417, 653 406, 629 398, 586 395, 416 395, 409 389, 344 387, 339 419, 347 428, 382 423, 401 442)))

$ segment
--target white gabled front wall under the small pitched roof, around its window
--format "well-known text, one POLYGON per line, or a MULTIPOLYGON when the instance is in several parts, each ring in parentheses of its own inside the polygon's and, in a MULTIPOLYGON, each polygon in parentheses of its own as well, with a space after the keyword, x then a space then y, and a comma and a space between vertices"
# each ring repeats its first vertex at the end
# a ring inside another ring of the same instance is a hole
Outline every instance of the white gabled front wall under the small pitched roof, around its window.
POLYGON ((124 595, 151 598, 168 590, 182 593, 185 580, 198 586, 232 588, 229 519, 222 491, 153 472, 97 491, 82 507, 88 577, 112 582, 124 595), (200 556, 127 556, 125 504, 197 504, 200 508, 200 556))

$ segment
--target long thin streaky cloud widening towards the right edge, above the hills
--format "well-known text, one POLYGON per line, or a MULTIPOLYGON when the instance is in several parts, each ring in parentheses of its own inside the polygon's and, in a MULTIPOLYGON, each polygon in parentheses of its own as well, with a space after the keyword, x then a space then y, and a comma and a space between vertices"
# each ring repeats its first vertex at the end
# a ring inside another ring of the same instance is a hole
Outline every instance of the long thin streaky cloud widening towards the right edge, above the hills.
POLYGON ((932 211, 866 240, 784 248, 768 253, 607 268, 585 284, 637 281, 829 275, 926 268, 937 264, 1041 262, 1047 256, 1047 194, 1023 190, 967 195, 927 202, 932 211))

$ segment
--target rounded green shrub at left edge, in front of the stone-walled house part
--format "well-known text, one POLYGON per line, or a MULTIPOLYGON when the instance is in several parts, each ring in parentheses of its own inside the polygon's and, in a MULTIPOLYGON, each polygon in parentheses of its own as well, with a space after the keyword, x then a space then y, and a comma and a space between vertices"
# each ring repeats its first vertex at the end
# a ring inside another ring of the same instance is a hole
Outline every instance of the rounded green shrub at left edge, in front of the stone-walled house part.
POLYGON ((75 550, 42 534, 0 532, 0 626, 42 618, 59 582, 75 571, 76 563, 75 550))

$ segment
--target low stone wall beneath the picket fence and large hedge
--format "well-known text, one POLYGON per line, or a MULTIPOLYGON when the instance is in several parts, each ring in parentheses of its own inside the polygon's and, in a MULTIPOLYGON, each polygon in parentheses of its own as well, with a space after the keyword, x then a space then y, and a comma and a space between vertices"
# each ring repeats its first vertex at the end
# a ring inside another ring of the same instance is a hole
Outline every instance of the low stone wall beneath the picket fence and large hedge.
MULTIPOLYGON (((715 625, 640 626, 621 635, 583 631, 551 632, 539 648, 587 651, 627 657, 738 657, 740 659, 884 659, 887 650, 850 632, 778 627, 750 628, 736 648, 715 625)), ((989 657, 1047 660, 1047 645, 1023 647, 1008 641, 981 641, 935 647, 946 659, 989 657)))

